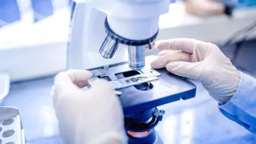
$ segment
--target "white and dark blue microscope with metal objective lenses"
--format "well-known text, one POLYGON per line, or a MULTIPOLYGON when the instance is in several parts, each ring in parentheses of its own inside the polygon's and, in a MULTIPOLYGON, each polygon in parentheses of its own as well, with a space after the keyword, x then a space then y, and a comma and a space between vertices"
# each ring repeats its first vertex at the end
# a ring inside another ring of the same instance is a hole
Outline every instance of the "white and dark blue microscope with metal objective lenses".
MULTIPOLYGON (((194 98, 187 78, 152 69, 146 51, 154 46, 159 15, 169 0, 75 0, 71 6, 67 68, 91 71, 119 92, 129 143, 159 143, 154 127, 166 103, 194 98)), ((161 142, 160 142, 161 143, 161 142)))

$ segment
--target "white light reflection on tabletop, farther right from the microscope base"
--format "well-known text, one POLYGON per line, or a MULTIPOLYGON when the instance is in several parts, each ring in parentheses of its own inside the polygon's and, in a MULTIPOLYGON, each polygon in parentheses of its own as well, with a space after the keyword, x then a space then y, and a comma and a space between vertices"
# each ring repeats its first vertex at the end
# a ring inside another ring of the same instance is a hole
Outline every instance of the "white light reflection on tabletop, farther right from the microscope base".
POLYGON ((188 109, 183 111, 180 115, 180 135, 182 137, 182 144, 190 144, 194 131, 195 121, 194 110, 188 109))

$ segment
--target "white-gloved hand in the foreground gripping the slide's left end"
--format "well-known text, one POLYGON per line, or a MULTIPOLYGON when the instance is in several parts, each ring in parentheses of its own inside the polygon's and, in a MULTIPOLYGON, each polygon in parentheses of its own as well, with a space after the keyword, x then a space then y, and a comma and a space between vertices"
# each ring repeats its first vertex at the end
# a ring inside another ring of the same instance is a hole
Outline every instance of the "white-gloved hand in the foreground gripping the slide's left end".
POLYGON ((121 103, 107 81, 93 81, 86 70, 68 70, 54 78, 51 97, 60 135, 67 144, 126 143, 121 103))

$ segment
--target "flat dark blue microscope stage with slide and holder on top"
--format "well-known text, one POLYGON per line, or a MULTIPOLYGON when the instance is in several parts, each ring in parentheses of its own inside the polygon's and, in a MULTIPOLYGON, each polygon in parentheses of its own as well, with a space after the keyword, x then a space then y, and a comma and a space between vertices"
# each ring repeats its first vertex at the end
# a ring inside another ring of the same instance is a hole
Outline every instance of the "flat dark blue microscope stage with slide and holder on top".
POLYGON ((134 114, 166 103, 194 98, 196 86, 187 78, 171 74, 165 68, 132 70, 127 63, 89 69, 89 81, 107 79, 119 95, 124 114, 134 114))

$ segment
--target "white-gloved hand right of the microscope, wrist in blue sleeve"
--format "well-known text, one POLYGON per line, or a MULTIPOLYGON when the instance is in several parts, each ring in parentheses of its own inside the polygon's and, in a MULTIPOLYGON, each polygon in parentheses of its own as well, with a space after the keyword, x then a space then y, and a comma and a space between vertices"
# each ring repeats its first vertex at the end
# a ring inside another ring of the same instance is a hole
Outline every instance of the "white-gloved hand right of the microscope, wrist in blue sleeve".
POLYGON ((218 46, 181 38, 158 41, 155 47, 164 51, 151 62, 151 67, 166 67, 173 74, 200 81, 221 104, 235 94, 240 73, 218 46))

